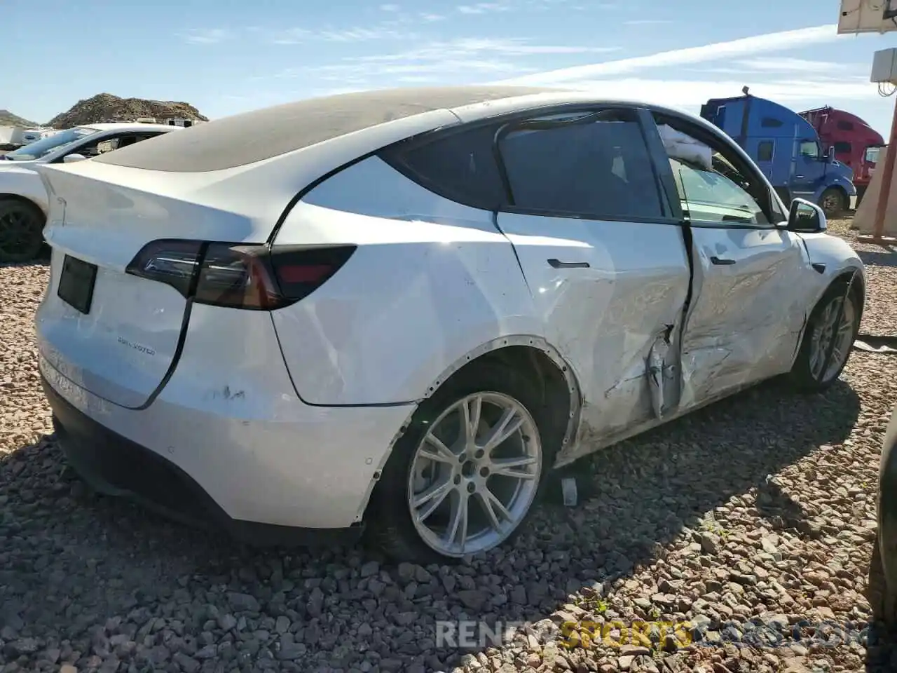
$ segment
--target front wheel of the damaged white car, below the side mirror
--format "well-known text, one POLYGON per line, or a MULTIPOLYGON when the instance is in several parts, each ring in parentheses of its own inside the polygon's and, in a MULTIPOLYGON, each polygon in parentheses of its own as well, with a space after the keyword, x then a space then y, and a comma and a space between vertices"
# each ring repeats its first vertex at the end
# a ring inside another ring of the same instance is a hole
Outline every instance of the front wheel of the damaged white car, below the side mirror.
POLYGON ((810 314, 790 373, 798 389, 818 392, 828 388, 847 364, 859 331, 859 310, 856 294, 845 296, 846 291, 846 284, 832 284, 810 314))

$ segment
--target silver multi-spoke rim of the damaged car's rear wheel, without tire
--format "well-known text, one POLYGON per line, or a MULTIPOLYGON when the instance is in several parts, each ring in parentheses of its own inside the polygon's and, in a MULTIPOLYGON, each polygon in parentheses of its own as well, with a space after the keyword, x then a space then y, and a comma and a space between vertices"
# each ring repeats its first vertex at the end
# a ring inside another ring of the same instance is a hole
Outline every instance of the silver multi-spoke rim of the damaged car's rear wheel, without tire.
POLYGON ((407 489, 414 528, 441 555, 498 546, 527 516, 542 469, 542 442, 525 406, 499 392, 459 399, 414 451, 407 489))

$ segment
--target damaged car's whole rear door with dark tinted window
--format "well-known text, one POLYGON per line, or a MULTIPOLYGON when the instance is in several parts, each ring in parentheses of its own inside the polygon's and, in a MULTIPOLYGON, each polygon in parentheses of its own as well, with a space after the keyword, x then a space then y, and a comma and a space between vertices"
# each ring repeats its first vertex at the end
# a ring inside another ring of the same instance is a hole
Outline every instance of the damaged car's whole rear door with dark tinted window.
POLYGON ((679 394, 690 270, 646 122, 644 110, 578 110, 510 124, 497 140, 511 204, 498 226, 599 441, 662 415, 679 394))

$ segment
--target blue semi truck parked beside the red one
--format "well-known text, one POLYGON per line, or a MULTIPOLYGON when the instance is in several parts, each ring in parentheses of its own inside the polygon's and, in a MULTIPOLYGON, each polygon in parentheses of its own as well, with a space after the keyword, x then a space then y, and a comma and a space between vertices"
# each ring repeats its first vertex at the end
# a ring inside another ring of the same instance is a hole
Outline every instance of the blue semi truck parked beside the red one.
POLYGON ((853 170, 823 153, 816 129, 779 103, 750 95, 714 98, 701 106, 701 117, 735 139, 760 167, 788 206, 795 197, 819 205, 834 217, 853 207, 857 188, 853 170))

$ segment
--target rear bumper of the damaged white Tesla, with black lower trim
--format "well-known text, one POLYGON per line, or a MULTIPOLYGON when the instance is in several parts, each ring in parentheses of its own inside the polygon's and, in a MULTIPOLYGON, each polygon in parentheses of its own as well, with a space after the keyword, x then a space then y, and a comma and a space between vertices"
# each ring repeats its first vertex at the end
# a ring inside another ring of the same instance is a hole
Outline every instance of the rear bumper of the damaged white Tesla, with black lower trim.
POLYGON ((85 481, 250 544, 330 544, 357 535, 411 410, 297 401, 289 421, 248 420, 162 394, 136 411, 91 395, 42 357, 39 366, 59 443, 85 481))

